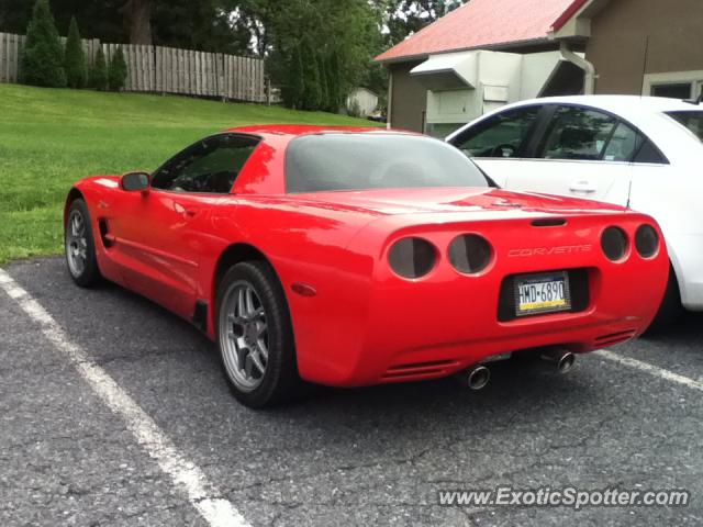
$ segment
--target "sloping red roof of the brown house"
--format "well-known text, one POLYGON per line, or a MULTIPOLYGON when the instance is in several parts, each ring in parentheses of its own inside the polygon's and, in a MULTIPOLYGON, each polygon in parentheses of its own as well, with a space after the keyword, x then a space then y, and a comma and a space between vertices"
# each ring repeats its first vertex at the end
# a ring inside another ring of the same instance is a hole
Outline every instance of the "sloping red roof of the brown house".
POLYGON ((376 60, 397 61, 436 53, 547 42, 555 25, 567 23, 585 1, 470 0, 376 60))

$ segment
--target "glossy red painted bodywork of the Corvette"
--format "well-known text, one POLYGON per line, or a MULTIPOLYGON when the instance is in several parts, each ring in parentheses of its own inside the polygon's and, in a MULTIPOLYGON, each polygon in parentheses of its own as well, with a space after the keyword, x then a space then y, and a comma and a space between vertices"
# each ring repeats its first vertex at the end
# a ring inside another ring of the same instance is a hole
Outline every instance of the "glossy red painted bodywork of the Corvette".
POLYGON ((208 305, 203 329, 211 338, 223 255, 235 246, 264 255, 284 289, 305 380, 366 385, 445 377, 523 349, 587 352, 638 336, 663 298, 663 243, 654 258, 633 247, 621 262, 601 249, 601 234, 613 225, 631 240, 645 223, 661 236, 646 215, 483 188, 286 194, 288 144, 321 128, 234 132, 261 143, 228 195, 126 192, 116 176, 85 179, 74 192, 83 195, 100 233, 102 274, 185 318, 192 319, 198 302, 208 305), (533 225, 545 218, 562 218, 563 225, 533 225), (459 273, 447 258, 451 240, 471 233, 489 239, 494 251, 478 276, 459 273), (408 235, 422 236, 438 251, 433 271, 419 280, 400 278, 388 264, 391 245, 408 235), (584 311, 500 322, 507 277, 566 269, 588 277, 584 311))

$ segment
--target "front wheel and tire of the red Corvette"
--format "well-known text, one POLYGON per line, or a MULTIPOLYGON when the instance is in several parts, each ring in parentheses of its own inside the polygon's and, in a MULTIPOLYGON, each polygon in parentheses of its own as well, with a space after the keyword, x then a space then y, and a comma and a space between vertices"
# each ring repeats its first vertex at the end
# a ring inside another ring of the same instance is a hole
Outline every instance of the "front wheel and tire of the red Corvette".
POLYGON ((101 281, 90 213, 82 199, 74 200, 68 209, 64 249, 68 272, 74 282, 81 288, 92 288, 101 281))

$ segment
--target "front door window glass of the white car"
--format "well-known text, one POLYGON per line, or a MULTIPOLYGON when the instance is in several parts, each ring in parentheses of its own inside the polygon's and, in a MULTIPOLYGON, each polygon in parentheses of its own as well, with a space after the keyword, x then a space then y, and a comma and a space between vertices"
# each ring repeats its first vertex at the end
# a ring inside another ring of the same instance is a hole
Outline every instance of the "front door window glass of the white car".
POLYGON ((469 157, 520 157, 542 106, 510 110, 479 123, 453 143, 469 157))

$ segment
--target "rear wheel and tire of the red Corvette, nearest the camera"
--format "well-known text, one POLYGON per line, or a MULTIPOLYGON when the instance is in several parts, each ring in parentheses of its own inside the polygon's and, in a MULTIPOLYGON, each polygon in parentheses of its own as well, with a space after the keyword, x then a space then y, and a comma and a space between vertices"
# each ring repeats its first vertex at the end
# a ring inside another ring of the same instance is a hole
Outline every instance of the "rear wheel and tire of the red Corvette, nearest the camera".
POLYGON ((290 400, 300 384, 290 314, 274 269, 237 264, 217 288, 217 346, 234 396, 252 408, 290 400))

